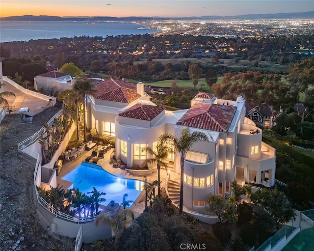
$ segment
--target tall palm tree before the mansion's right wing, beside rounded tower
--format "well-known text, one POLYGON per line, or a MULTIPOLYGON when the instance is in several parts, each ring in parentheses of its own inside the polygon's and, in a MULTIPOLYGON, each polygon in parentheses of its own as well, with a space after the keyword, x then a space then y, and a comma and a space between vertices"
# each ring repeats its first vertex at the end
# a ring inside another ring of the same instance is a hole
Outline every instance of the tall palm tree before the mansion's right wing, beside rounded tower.
POLYGON ((187 127, 181 130, 180 137, 175 137, 172 134, 163 134, 160 136, 160 141, 166 142, 172 145, 175 149, 175 152, 180 153, 180 204, 179 204, 179 213, 183 213, 183 173, 184 173, 184 157, 187 151, 189 151, 192 145, 198 141, 204 140, 208 141, 206 134, 202 132, 193 132, 190 133, 187 127))

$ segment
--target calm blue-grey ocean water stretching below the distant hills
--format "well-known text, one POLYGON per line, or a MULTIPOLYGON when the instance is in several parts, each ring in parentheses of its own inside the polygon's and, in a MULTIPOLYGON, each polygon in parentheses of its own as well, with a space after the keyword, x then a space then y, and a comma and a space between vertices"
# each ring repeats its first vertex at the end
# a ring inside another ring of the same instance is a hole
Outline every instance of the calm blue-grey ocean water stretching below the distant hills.
POLYGON ((29 41, 74 36, 117 36, 155 33, 156 29, 119 22, 1 21, 0 42, 29 41))

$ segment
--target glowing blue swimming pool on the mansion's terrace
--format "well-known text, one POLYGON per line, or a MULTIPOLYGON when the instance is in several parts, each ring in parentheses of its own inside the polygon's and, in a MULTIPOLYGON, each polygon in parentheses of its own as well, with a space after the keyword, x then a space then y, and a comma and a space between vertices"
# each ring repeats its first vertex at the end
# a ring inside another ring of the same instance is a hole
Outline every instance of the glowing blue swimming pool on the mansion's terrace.
POLYGON ((117 177, 98 165, 86 162, 78 165, 62 179, 73 182, 73 185, 68 189, 78 188, 85 195, 93 191, 93 187, 99 192, 106 193, 102 196, 106 199, 102 203, 104 205, 107 205, 111 200, 119 204, 122 203, 124 194, 128 194, 127 200, 135 201, 144 185, 143 181, 117 177))

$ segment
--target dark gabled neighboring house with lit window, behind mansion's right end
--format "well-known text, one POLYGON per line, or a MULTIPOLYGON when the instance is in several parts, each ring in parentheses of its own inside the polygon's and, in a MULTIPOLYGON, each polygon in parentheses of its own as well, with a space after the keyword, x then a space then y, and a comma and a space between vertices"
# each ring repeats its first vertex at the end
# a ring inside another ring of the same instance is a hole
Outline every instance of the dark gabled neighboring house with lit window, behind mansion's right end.
POLYGON ((273 128, 276 125, 276 118, 282 113, 271 111, 271 108, 262 104, 262 107, 246 104, 246 116, 254 121, 261 128, 273 128))

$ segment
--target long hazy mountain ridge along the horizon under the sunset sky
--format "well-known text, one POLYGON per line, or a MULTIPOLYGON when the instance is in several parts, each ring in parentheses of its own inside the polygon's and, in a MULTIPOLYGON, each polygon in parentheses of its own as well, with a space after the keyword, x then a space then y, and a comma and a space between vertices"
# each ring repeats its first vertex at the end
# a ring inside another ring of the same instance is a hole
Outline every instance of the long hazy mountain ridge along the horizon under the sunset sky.
POLYGON ((171 20, 171 19, 293 19, 293 18, 314 18, 314 11, 307 12, 293 12, 293 13, 275 13, 275 14, 246 14, 238 16, 192 16, 192 17, 108 17, 108 16, 97 16, 97 17, 59 17, 59 16, 33 16, 33 15, 23 15, 23 16, 10 16, 0 18, 0 21, 148 21, 148 20, 171 20))

